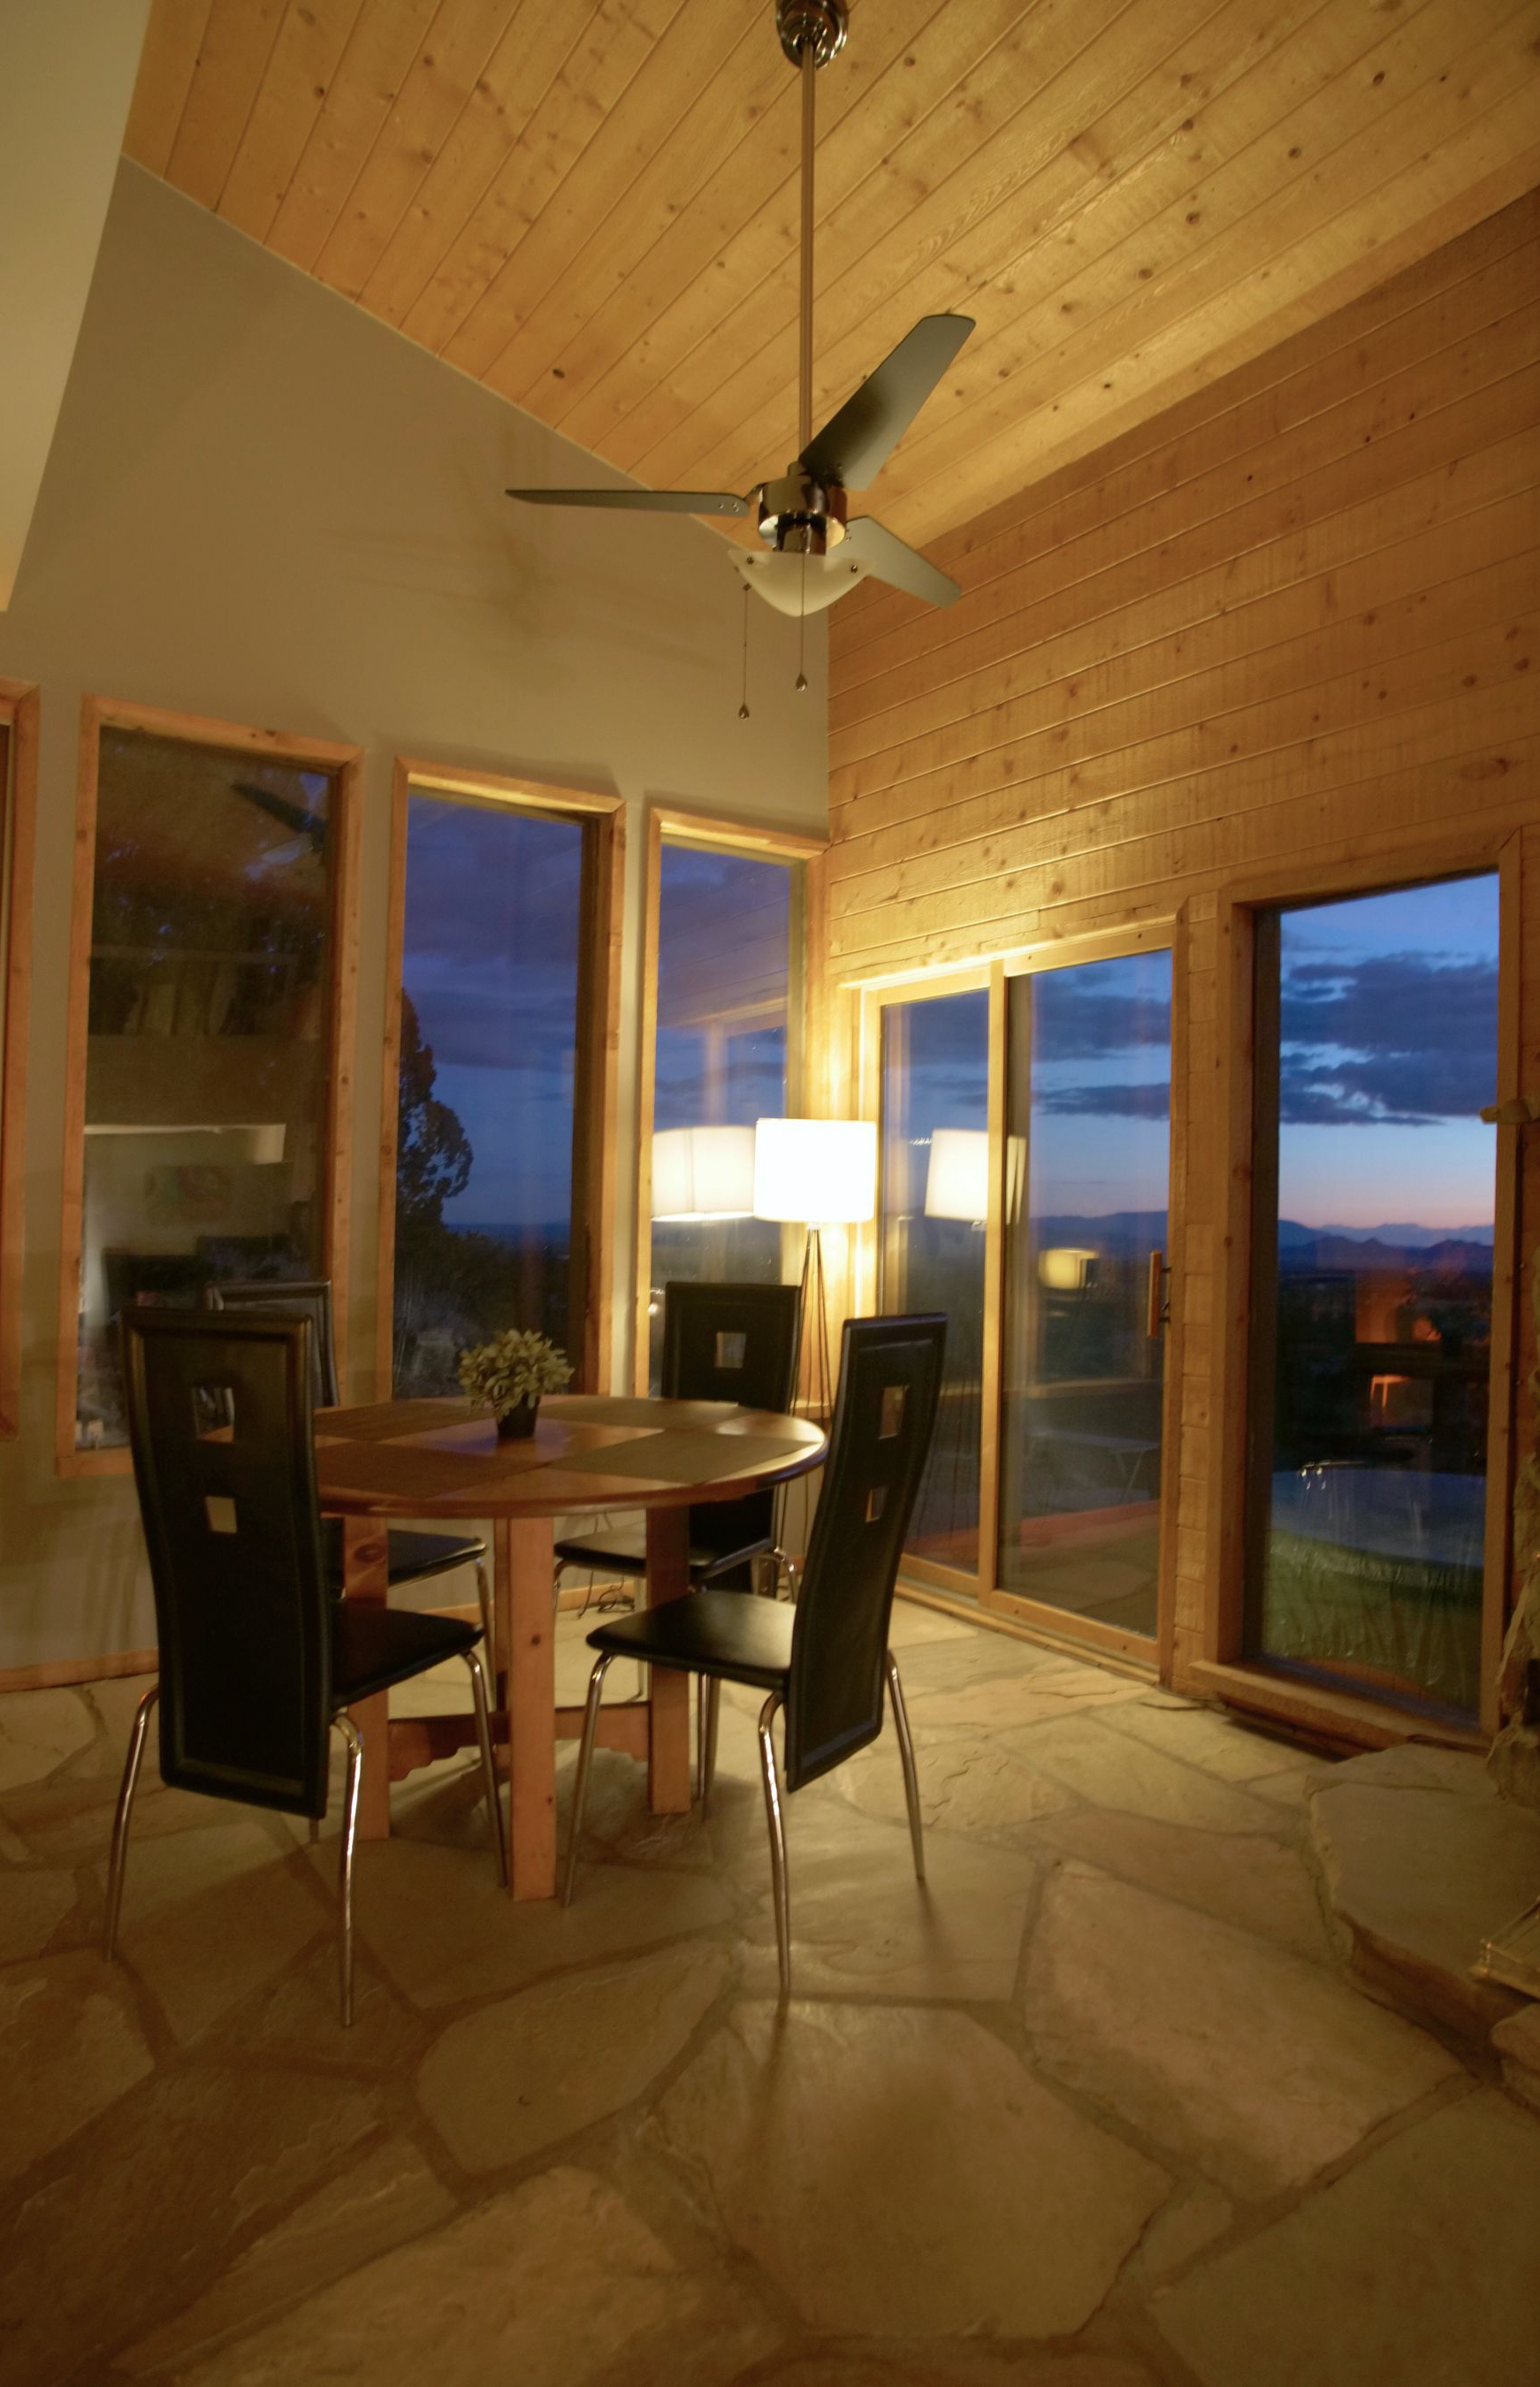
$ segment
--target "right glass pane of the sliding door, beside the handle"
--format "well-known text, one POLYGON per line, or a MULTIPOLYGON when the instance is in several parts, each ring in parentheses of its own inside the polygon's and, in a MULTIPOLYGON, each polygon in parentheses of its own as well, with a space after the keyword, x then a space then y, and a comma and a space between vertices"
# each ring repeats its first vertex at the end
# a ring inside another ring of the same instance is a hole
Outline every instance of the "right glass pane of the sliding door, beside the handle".
POLYGON ((1153 1635, 1170 952, 1012 979, 1008 1022, 1000 1585, 1153 1635))

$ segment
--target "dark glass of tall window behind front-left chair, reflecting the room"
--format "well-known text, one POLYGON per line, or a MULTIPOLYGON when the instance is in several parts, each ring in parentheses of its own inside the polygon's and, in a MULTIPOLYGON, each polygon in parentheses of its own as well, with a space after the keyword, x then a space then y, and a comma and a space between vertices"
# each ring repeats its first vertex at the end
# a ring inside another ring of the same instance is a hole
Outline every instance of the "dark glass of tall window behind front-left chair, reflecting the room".
POLYGON ((334 783, 103 730, 76 1447, 127 1439, 124 1301, 325 1256, 334 783))

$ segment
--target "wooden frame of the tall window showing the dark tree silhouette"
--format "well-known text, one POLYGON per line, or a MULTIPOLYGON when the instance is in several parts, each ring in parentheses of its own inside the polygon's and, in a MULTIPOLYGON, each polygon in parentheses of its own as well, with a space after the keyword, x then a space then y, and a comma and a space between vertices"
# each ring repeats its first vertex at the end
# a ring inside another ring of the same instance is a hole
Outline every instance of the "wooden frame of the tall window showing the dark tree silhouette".
POLYGON ((396 1306, 396 1120, 401 1074, 401 955, 406 943, 406 821, 413 788, 425 795, 554 814, 592 828, 585 855, 578 988, 578 1084, 573 1088, 573 1179, 583 1194, 583 1349, 578 1382, 609 1392, 609 1315, 614 1291, 616 1062, 621 1050, 621 929, 626 905, 626 800, 559 788, 499 771, 461 771, 399 754, 392 778, 389 909, 384 952, 384 1081, 380 1088, 380 1220, 375 1308, 375 1396, 392 1399, 396 1306))

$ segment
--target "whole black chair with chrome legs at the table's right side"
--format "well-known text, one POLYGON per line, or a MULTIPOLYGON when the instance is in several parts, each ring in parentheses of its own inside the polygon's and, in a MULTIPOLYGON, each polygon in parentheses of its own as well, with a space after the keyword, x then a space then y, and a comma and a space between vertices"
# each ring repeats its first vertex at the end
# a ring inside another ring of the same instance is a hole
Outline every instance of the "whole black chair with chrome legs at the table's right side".
POLYGON ((571 1905, 578 1840, 595 1754, 604 1673, 614 1659, 700 1676, 707 1704, 700 1797, 712 1795, 716 1707, 723 1683, 762 1690, 759 1771, 776 1893, 781 1996, 790 1998, 790 1900, 786 1831, 771 1726, 783 1719, 786 1790, 802 1790, 845 1764, 883 1728, 883 1685, 898 1731, 914 1879, 924 1881, 924 1838, 914 1743, 898 1664, 888 1649, 888 1614, 898 1559, 931 1447, 941 1394, 945 1318, 850 1318, 840 1344, 840 1384, 824 1461, 824 1489, 812 1523, 802 1597, 795 1609, 771 1599, 700 1590, 587 1635, 599 1652, 587 1685, 578 1783, 566 1843, 561 1902, 571 1905))

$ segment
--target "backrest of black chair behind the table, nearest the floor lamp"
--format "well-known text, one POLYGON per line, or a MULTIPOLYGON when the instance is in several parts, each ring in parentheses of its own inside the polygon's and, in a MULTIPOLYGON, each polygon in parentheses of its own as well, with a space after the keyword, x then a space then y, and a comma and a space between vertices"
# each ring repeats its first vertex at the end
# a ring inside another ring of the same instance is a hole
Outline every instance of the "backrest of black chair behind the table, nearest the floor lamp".
MULTIPOLYGON (((800 1284, 666 1284, 664 1392, 673 1401, 738 1401, 740 1408, 790 1408, 797 1399, 802 1341, 800 1284)), ((769 1549, 774 1492, 690 1509, 695 1549, 726 1559, 769 1549)), ((738 1568, 731 1580, 747 1571, 738 1568)))

